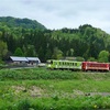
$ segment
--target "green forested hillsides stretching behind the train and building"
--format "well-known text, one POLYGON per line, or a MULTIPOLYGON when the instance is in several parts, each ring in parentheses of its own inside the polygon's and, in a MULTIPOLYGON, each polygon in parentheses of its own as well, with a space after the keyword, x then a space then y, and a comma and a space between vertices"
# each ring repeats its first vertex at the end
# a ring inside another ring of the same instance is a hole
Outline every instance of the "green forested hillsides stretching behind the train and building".
POLYGON ((37 56, 42 62, 74 57, 108 63, 110 34, 90 24, 50 30, 35 20, 1 16, 0 63, 9 56, 37 56))

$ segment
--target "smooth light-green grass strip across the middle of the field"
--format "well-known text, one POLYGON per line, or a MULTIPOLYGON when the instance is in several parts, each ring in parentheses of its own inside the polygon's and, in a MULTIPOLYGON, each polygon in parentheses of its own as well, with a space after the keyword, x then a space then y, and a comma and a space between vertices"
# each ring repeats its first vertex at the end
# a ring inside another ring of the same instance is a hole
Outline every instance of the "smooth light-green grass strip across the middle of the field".
MULTIPOLYGON (((22 80, 22 81, 0 81, 0 88, 22 87, 31 90, 33 86, 42 89, 43 94, 53 92, 110 92, 110 80, 22 80)), ((14 88, 15 90, 15 88, 14 88)), ((2 90, 4 91, 4 90, 2 90)), ((8 91, 8 90, 7 90, 8 91)))

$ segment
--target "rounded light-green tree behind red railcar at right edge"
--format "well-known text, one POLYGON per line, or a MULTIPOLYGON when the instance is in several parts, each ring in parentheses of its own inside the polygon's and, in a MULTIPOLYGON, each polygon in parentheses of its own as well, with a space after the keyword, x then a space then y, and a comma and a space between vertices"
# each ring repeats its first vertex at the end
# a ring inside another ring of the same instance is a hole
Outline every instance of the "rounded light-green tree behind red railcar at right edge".
POLYGON ((98 61, 102 62, 102 63, 108 63, 109 62, 109 52, 108 51, 101 51, 99 53, 98 61))

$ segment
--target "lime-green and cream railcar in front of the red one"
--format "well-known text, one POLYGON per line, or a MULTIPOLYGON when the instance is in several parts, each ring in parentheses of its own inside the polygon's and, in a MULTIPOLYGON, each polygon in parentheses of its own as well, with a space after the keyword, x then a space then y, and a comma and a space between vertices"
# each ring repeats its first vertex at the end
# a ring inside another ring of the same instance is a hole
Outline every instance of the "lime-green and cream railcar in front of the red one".
POLYGON ((47 61, 47 68, 81 70, 81 62, 74 61, 50 59, 47 61))

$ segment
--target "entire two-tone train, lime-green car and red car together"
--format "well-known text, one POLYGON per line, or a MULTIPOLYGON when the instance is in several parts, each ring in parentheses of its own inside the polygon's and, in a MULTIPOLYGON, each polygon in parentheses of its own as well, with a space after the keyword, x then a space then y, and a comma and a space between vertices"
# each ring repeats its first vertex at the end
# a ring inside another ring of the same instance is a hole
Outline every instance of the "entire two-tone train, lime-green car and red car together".
POLYGON ((69 70, 82 70, 82 72, 109 72, 109 63, 98 62, 76 62, 76 61, 64 61, 64 59, 48 59, 48 69, 69 69, 69 70))

